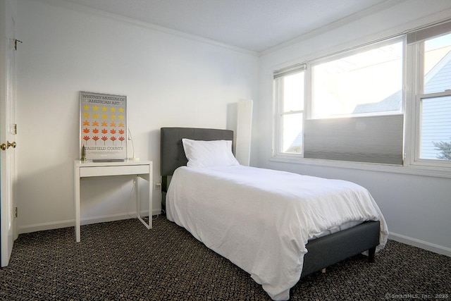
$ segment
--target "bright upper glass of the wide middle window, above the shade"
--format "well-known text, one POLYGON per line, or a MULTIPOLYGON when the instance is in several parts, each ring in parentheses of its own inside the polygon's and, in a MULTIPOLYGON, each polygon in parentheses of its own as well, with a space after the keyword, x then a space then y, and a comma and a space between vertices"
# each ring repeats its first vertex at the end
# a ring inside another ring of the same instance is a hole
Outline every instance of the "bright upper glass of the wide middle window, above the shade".
POLYGON ((401 113, 403 42, 371 46, 312 63, 309 118, 401 113))

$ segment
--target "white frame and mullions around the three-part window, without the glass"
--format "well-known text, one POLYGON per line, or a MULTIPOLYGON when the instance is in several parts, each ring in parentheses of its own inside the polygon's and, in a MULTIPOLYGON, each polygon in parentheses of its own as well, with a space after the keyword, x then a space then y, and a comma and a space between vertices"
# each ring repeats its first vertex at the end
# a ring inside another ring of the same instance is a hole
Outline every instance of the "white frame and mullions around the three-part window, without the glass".
MULTIPOLYGON (((445 20, 440 23, 435 23, 434 25, 426 25, 420 29, 410 30, 402 32, 400 35, 393 35, 386 39, 379 39, 376 42, 362 44, 359 47, 352 47, 344 51, 338 51, 335 54, 330 54, 326 56, 321 56, 319 59, 311 60, 308 62, 304 61, 304 118, 303 123, 311 116, 311 65, 312 62, 318 63, 319 61, 324 62, 326 60, 337 59, 339 56, 350 56, 352 53, 358 51, 366 51, 373 47, 380 47, 381 43, 393 41, 393 39, 403 39, 403 82, 402 82, 402 113, 404 114, 404 164, 400 166, 393 166, 390 164, 377 164, 377 163, 362 163, 362 162, 352 162, 352 161, 333 161, 325 159, 307 159, 304 158, 304 145, 302 145, 301 154, 285 153, 282 152, 282 139, 283 139, 283 127, 280 124, 281 118, 279 118, 280 99, 276 99, 276 94, 273 97, 274 111, 275 111, 275 126, 273 126, 274 137, 273 137, 273 152, 270 161, 276 162, 286 162, 294 164, 308 164, 317 166, 330 166, 330 167, 342 167, 342 168, 355 168, 362 170, 372 170, 372 171, 385 171, 394 173, 405 173, 405 174, 416 174, 421 176, 438 176, 442 178, 451 178, 451 160, 442 159, 421 159, 419 158, 420 150, 420 109, 421 109, 421 99, 428 97, 437 96, 451 96, 451 91, 439 92, 434 94, 420 94, 418 93, 422 87, 422 80, 424 78, 423 64, 420 63, 419 59, 422 59, 422 54, 420 51, 421 43, 424 42, 409 42, 409 35, 416 32, 423 34, 424 29, 428 30, 430 27, 448 27, 451 24, 451 20, 445 20), (374 46, 378 45, 378 46, 374 46)), ((433 28, 434 29, 434 28, 433 28)), ((442 30, 443 31, 443 30, 442 30)), ((445 35, 451 31, 445 31, 440 35, 445 35)), ((427 37, 431 39, 437 37, 438 35, 433 35, 427 37)), ((274 85, 274 87, 276 87, 274 85)), ((304 130, 304 128, 303 128, 304 130)))

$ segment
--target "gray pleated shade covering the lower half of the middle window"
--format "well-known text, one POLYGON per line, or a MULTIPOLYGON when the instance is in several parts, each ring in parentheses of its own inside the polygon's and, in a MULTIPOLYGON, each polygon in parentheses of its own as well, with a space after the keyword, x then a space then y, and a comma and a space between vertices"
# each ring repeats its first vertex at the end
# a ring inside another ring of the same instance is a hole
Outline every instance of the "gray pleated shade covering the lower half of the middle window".
POLYGON ((402 165, 402 114, 309 119, 304 158, 402 165))

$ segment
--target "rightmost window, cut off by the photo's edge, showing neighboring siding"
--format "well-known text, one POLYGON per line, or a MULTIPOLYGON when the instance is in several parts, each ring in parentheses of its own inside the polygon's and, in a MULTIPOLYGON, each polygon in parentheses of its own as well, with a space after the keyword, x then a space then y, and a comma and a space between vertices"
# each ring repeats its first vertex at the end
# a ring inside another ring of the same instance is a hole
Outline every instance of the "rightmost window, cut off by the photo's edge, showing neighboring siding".
POLYGON ((416 66, 412 164, 451 166, 451 23, 409 37, 416 66))

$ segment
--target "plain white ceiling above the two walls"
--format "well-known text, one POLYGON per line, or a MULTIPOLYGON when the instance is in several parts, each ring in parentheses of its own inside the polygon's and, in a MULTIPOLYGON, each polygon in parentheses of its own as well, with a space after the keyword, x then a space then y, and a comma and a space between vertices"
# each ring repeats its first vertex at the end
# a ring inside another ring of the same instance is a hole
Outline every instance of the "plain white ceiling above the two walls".
POLYGON ((261 52, 392 0, 69 0, 261 52))

